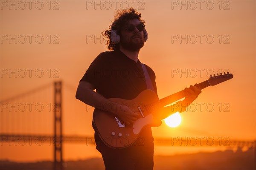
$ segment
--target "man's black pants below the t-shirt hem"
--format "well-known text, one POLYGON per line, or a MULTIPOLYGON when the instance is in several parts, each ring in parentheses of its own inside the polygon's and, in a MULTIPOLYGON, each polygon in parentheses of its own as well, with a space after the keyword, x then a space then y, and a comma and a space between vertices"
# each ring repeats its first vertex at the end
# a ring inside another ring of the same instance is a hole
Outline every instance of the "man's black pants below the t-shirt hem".
POLYGON ((154 151, 143 151, 131 147, 101 150, 106 170, 153 170, 154 151))

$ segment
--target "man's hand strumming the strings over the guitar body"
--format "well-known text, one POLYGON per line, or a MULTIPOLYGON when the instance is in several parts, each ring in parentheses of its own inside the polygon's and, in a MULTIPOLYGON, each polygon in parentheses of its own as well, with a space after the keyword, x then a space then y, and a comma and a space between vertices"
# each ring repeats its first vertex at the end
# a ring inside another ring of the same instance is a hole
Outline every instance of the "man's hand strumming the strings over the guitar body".
POLYGON ((122 121, 124 121, 126 125, 133 124, 140 116, 140 113, 134 112, 127 105, 120 105, 120 104, 116 105, 115 114, 120 119, 122 119, 122 121))

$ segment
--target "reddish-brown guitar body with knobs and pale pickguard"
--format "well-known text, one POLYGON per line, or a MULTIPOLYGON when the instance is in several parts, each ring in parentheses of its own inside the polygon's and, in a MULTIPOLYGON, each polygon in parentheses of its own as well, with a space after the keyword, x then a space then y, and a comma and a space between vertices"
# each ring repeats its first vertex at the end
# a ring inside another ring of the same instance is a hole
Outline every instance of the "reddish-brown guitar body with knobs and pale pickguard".
MULTIPOLYGON (((132 125, 125 125, 115 114, 95 109, 93 122, 102 141, 113 148, 125 148, 133 144, 140 131, 145 127, 157 127, 161 120, 154 118, 154 113, 149 113, 146 105, 159 101, 157 95, 151 90, 141 92, 135 99, 125 100, 119 98, 109 99, 121 105, 129 106, 139 113, 143 113, 132 125)), ((107 106, 106 106, 107 107, 107 106)))

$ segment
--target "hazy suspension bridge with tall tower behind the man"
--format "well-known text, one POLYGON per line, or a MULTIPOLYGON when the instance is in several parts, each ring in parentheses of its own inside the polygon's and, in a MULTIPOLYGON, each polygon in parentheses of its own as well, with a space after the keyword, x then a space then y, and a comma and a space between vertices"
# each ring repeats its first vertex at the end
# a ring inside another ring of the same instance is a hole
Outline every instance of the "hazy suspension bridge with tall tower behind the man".
MULTIPOLYGON (((95 145, 91 135, 84 136, 71 132, 65 133, 65 127, 81 129, 77 125, 83 117, 81 111, 93 108, 75 98, 76 88, 61 81, 27 91, 0 101, 0 142, 5 143, 50 143, 53 146, 54 170, 62 170, 63 143, 85 143, 95 145), (83 105, 83 108, 78 105, 83 105), (64 115, 64 116, 63 116, 64 115), (76 116, 75 116, 76 115, 76 116), (65 124, 66 122, 67 125, 65 124), (47 141, 47 142, 45 142, 47 141)), ((68 128, 67 128, 68 129, 68 128)), ((156 145, 165 146, 227 146, 253 147, 255 141, 214 139, 212 137, 172 137, 155 138, 156 145)))

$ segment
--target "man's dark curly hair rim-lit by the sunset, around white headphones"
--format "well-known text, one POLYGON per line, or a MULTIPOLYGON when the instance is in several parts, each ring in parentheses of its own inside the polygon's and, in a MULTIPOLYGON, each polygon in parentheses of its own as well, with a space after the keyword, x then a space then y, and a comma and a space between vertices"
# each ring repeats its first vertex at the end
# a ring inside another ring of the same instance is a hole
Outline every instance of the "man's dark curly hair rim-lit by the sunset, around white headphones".
POLYGON ((114 22, 112 23, 111 26, 109 26, 109 30, 103 31, 102 35, 105 36, 105 38, 108 39, 106 45, 108 45, 108 49, 111 51, 116 51, 119 50, 119 44, 115 44, 114 42, 111 41, 110 36, 111 36, 111 27, 113 30, 116 31, 116 34, 119 34, 123 26, 127 24, 129 20, 133 19, 138 19, 140 20, 140 23, 142 23, 145 27, 145 21, 141 20, 141 14, 137 11, 135 11, 134 8, 130 8, 127 10, 118 10, 115 15, 114 22))

